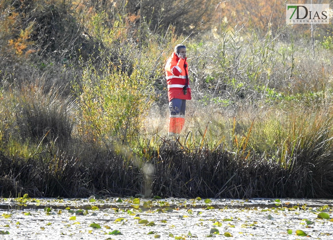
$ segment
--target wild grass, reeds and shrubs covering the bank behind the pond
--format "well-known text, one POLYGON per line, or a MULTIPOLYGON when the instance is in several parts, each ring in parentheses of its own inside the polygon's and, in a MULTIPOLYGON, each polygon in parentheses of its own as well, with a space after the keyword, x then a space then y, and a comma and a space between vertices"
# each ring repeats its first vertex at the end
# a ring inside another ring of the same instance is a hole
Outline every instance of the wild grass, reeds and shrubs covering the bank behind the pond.
POLYGON ((0 0, 0 196, 333 197, 332 25, 285 8, 0 0), (178 43, 193 96, 169 139, 178 43))

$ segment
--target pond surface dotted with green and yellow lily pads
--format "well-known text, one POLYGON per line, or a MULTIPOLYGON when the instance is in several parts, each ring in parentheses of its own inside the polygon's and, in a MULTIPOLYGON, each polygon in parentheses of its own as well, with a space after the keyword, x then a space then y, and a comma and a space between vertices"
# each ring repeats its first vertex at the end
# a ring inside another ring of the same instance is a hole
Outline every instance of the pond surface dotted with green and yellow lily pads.
POLYGON ((332 239, 330 199, 0 198, 1 239, 332 239))

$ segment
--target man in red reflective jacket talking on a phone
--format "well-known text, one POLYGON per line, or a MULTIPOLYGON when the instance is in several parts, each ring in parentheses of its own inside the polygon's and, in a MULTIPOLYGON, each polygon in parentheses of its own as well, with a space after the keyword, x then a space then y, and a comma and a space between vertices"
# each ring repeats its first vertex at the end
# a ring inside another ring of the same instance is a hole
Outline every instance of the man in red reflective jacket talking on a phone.
POLYGON ((186 100, 191 100, 186 59, 185 45, 178 44, 166 61, 165 71, 170 110, 169 136, 180 133, 185 122, 186 100))

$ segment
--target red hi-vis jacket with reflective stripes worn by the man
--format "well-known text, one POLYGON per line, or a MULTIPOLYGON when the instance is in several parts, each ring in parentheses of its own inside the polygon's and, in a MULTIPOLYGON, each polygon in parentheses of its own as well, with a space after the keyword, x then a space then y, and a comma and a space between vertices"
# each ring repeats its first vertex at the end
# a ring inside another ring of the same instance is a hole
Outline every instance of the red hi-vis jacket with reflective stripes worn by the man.
POLYGON ((188 76, 186 58, 179 58, 175 53, 172 53, 172 56, 166 61, 165 71, 169 102, 174 98, 191 100, 189 81, 187 83, 187 94, 184 95, 183 91, 186 82, 186 73, 188 76))

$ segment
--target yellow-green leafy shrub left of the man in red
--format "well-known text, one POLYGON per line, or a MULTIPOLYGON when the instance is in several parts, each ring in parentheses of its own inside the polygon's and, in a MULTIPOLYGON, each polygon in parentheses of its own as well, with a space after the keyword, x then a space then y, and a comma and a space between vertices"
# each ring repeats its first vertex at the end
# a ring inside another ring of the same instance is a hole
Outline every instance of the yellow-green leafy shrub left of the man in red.
POLYGON ((93 67, 87 67, 82 89, 77 86, 76 91, 81 134, 90 134, 94 141, 106 146, 114 140, 128 143, 138 136, 153 96, 147 73, 136 68, 129 76, 120 70, 97 73, 93 67))

